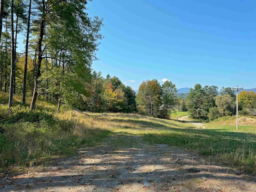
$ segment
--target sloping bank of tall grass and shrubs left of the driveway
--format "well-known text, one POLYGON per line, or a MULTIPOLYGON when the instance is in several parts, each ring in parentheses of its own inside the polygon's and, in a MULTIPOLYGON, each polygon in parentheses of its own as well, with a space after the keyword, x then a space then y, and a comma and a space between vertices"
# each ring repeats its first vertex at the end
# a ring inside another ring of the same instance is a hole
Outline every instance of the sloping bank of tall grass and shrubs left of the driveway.
MULTIPOLYGON (((82 145, 94 145, 110 130, 76 111, 56 113, 56 103, 38 100, 35 112, 14 96, 8 112, 8 94, 0 96, 0 168, 44 164, 56 156, 70 156, 82 145), (5 120, 3 120, 5 119, 5 120)), ((28 100, 28 103, 30 100, 28 100)))

